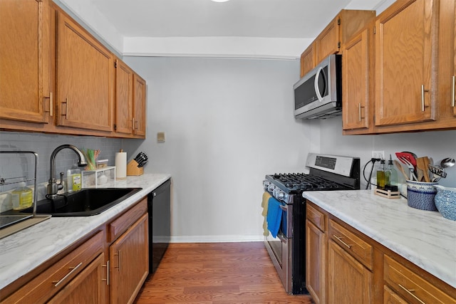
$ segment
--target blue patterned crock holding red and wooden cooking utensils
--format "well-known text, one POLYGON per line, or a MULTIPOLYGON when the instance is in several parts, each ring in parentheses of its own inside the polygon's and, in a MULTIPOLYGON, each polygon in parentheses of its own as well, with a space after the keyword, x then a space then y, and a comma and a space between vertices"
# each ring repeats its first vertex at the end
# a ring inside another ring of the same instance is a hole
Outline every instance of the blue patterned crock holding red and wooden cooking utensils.
POLYGON ((434 185, 436 182, 407 182, 407 204, 408 206, 421 210, 435 211, 434 197, 437 193, 434 185))

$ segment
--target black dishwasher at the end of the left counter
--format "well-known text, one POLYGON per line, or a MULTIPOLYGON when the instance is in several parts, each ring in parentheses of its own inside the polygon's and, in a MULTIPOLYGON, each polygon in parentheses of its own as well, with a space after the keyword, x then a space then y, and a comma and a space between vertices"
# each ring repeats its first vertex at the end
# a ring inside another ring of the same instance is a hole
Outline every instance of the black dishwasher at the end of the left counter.
POLYGON ((149 273, 157 271, 171 239, 171 180, 147 196, 149 212, 149 273))

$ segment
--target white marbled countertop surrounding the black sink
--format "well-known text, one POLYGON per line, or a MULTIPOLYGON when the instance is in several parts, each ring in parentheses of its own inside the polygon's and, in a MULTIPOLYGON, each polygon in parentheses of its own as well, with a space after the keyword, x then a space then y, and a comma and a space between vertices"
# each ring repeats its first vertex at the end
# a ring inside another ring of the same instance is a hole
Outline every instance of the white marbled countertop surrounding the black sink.
POLYGON ((90 231, 113 219, 160 186, 170 174, 143 174, 104 187, 142 188, 128 199, 95 216, 51 217, 0 239, 0 289, 61 252, 90 231))

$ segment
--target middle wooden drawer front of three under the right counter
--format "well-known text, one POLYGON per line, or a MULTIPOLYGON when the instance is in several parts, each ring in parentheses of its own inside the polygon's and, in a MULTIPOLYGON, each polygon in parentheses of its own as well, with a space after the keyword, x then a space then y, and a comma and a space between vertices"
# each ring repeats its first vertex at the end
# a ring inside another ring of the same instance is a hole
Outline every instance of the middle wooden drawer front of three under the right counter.
POLYGON ((348 253, 372 270, 373 266, 373 246, 363 241, 354 232, 343 228, 332 219, 329 221, 329 236, 333 241, 338 243, 348 253))

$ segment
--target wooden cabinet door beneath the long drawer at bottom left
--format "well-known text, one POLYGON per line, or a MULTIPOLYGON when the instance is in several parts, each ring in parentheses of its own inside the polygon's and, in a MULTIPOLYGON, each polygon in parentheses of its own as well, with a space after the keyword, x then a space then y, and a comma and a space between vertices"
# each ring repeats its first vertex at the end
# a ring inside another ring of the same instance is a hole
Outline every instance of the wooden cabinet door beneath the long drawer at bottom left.
POLYGON ((108 303, 105 293, 104 253, 90 263, 48 303, 108 303))

